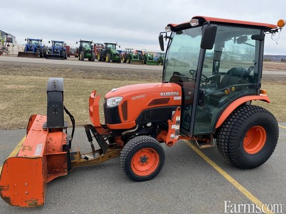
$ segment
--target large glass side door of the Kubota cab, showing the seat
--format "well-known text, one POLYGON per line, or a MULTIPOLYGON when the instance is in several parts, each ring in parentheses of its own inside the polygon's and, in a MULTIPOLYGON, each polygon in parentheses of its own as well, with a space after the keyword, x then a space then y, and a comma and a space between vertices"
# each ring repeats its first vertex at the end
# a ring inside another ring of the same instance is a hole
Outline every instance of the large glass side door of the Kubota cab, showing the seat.
POLYGON ((197 106, 194 134, 214 131, 220 112, 245 95, 255 95, 260 42, 252 35, 258 29, 218 26, 213 50, 207 50, 200 82, 206 91, 203 106, 197 106))

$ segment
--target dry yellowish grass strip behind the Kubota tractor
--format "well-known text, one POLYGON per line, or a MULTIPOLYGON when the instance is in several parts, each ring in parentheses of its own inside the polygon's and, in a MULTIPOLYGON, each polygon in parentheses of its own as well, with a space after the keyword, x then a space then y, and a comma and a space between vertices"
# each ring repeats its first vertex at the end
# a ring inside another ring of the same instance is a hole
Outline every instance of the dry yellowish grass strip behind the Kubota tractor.
MULTIPOLYGON (((0 69, 0 129, 26 128, 31 114, 46 114, 46 86, 49 74, 37 75, 36 72, 31 72, 31 69, 29 75, 27 73, 19 74, 9 75, 6 72, 1 72, 0 69)), ((59 71, 58 74, 54 73, 53 76, 61 76, 62 73, 59 71)), ((97 90, 97 94, 101 95, 100 114, 103 119, 102 102, 108 91, 124 85, 160 81, 161 77, 158 75, 158 78, 154 79, 154 75, 150 75, 151 78, 146 76, 141 78, 140 75, 136 76, 135 74, 132 77, 134 80, 128 78, 110 80, 108 79, 110 77, 105 78, 104 75, 103 79, 98 79, 94 76, 77 77, 75 74, 64 79, 64 103, 75 117, 76 126, 82 126, 91 123, 88 115, 88 98, 93 90, 97 90)), ((278 121, 283 122, 286 121, 285 79, 286 77, 264 78, 262 88, 268 91, 271 103, 253 102, 255 105, 267 108, 278 121)), ((67 117, 66 120, 69 121, 69 118, 67 117)))

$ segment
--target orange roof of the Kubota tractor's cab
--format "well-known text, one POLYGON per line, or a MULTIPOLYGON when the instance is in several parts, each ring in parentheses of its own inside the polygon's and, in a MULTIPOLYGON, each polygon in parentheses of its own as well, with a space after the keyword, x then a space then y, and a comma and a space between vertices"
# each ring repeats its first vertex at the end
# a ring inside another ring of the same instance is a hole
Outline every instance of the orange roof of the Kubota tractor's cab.
MULTIPOLYGON (((200 25, 206 21, 210 21, 214 24, 232 24, 237 26, 249 26, 249 27, 255 27, 260 28, 264 30, 271 30, 277 28, 277 25, 275 24, 267 24, 267 23, 260 23, 260 22, 250 22, 250 21, 241 21, 241 20, 233 20, 233 19, 222 19, 222 18, 214 18, 214 17, 208 17, 208 16, 194 16, 192 19, 199 19, 200 25)), ((190 27, 190 22, 184 22, 181 24, 168 24, 167 26, 171 27, 171 30, 178 30, 181 28, 187 28, 190 27)))

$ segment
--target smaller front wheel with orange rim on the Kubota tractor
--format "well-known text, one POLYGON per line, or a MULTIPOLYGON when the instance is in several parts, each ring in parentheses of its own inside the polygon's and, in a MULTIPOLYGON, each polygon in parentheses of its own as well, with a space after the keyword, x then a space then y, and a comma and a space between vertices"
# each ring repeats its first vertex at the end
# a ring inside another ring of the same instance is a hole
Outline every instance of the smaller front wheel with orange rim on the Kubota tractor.
POLYGON ((163 168, 164 162, 163 147, 150 136, 131 139, 120 154, 120 164, 124 173, 135 181, 153 179, 163 168))

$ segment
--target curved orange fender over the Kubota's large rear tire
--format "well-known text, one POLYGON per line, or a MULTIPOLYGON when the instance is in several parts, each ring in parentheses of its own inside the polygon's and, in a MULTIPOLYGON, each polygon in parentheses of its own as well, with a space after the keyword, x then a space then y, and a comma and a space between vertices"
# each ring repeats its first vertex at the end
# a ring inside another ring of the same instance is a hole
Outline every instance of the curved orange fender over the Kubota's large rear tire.
POLYGON ((268 95, 265 95, 265 94, 246 96, 246 97, 239 98, 233 101, 228 107, 224 109, 224 111, 222 112, 222 114, 220 115, 219 119, 216 122, 215 128, 218 128, 219 126, 221 126, 224 120, 232 113, 232 111, 234 111, 235 108, 246 103, 247 101, 252 101, 252 100, 261 100, 261 101, 270 103, 268 95))

